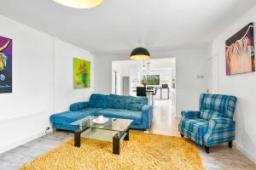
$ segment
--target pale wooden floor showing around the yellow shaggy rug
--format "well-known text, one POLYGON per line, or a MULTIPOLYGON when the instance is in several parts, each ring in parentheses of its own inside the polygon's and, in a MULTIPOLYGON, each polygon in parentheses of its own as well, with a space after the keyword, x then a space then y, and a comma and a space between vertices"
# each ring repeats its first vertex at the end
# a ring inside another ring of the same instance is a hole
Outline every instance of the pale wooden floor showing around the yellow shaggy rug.
MULTIPOLYGON (((175 108, 172 107, 170 101, 156 100, 155 104, 153 123, 148 133, 180 136, 177 130, 179 118, 175 116, 175 108)), ((18 169, 23 164, 54 149, 70 138, 73 138, 72 133, 49 133, 14 150, 9 150, 0 155, 0 170, 18 169)), ((227 144, 212 147, 210 154, 206 154, 200 145, 197 147, 207 170, 252 170, 255 166, 239 150, 236 150, 236 147, 229 149, 227 144)))

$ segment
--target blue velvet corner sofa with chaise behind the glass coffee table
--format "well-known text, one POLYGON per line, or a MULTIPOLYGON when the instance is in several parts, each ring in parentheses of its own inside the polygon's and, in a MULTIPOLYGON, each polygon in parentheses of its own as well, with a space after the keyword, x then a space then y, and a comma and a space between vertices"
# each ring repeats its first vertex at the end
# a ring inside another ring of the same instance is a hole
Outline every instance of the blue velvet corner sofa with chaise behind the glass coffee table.
POLYGON ((75 131, 77 127, 71 122, 85 116, 115 117, 132 119, 131 128, 148 129, 152 122, 153 108, 148 105, 148 98, 121 95, 91 94, 89 102, 78 102, 70 105, 69 111, 50 116, 53 128, 75 131))

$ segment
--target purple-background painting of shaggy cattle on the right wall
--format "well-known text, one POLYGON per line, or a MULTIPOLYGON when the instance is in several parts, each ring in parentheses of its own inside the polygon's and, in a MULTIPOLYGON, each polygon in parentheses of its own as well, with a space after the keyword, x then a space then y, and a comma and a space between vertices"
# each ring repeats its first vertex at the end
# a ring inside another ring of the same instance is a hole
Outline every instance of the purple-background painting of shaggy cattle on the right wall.
POLYGON ((226 75, 255 71, 253 23, 226 41, 226 75))

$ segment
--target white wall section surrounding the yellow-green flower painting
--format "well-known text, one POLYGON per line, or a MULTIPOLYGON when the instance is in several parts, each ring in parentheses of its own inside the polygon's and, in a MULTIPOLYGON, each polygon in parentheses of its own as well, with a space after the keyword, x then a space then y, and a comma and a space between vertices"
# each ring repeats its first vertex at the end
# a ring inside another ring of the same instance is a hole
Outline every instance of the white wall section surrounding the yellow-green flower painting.
POLYGON ((84 49, 55 39, 55 112, 67 111, 71 103, 86 101, 93 92, 94 59, 84 49), (73 57, 90 61, 90 87, 73 88, 73 57))

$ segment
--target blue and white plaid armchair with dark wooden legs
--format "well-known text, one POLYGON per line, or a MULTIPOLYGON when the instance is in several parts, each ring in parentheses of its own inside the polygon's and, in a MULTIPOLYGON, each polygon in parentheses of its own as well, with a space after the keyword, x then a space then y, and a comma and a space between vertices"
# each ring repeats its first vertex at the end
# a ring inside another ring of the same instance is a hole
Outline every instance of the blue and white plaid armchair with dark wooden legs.
POLYGON ((201 94, 200 111, 182 111, 178 130, 182 137, 205 145, 207 153, 215 144, 228 142, 232 148, 236 128, 233 121, 235 107, 235 96, 201 94))

